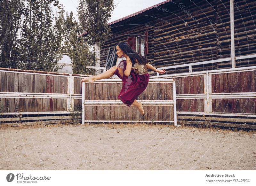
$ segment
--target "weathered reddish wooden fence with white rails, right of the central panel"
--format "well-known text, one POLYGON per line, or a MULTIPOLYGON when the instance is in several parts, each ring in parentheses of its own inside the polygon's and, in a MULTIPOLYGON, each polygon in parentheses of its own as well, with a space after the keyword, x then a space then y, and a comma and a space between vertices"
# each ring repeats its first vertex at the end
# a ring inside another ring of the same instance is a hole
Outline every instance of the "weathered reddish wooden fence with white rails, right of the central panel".
POLYGON ((179 121, 256 128, 256 66, 151 78, 176 82, 179 121))

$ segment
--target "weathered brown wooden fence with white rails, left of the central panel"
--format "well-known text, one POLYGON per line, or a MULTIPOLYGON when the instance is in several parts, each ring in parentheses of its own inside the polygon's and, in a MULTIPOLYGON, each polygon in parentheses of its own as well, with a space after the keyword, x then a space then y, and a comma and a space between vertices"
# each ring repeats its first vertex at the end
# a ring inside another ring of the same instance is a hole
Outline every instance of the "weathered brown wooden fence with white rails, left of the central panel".
POLYGON ((81 112, 84 76, 0 68, 0 121, 71 119, 81 112))

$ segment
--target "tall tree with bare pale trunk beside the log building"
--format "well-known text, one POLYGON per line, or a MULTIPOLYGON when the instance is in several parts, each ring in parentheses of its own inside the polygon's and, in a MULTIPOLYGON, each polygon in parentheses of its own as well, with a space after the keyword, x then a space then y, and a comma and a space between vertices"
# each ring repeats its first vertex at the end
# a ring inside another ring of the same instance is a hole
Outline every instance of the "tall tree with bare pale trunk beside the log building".
MULTIPOLYGON (((107 21, 113 10, 113 0, 79 0, 78 18, 84 30, 90 33, 95 47, 95 66, 100 66, 100 44, 112 34, 107 21)), ((95 74, 99 72, 97 70, 95 74)))

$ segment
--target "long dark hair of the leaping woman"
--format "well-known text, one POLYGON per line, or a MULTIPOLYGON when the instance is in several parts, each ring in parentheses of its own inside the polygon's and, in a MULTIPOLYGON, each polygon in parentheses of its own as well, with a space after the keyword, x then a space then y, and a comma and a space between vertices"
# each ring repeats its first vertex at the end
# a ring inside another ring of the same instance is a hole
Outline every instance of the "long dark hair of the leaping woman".
POLYGON ((148 63, 148 58, 133 50, 126 42, 120 42, 117 45, 125 54, 127 54, 127 56, 129 56, 133 65, 136 63, 136 59, 138 60, 139 65, 146 65, 146 63, 148 63))

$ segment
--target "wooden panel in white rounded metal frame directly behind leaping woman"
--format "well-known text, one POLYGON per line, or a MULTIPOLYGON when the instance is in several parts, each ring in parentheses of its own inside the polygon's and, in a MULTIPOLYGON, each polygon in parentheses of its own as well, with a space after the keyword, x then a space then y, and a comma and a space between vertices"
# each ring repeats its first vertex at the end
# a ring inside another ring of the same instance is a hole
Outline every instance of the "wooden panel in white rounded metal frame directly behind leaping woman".
POLYGON ((83 83, 82 123, 164 122, 177 125, 175 81, 149 81, 147 89, 137 97, 143 104, 143 116, 135 106, 128 107, 117 99, 122 86, 120 79, 105 79, 93 84, 83 83))

